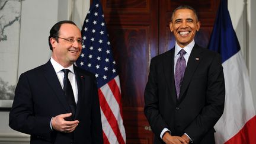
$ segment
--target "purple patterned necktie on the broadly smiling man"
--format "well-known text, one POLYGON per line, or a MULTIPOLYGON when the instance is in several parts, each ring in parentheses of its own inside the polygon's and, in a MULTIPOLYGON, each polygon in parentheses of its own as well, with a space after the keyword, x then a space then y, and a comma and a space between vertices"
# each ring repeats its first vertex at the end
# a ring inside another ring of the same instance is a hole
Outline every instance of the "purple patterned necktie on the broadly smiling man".
POLYGON ((176 62, 176 67, 175 67, 175 87, 176 87, 176 92, 177 92, 177 98, 180 97, 180 88, 181 88, 181 83, 183 81, 183 76, 185 72, 185 58, 184 54, 186 53, 185 50, 181 49, 180 50, 180 57, 178 57, 178 60, 176 62))

